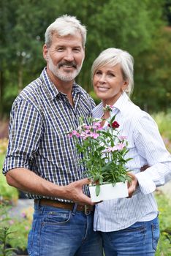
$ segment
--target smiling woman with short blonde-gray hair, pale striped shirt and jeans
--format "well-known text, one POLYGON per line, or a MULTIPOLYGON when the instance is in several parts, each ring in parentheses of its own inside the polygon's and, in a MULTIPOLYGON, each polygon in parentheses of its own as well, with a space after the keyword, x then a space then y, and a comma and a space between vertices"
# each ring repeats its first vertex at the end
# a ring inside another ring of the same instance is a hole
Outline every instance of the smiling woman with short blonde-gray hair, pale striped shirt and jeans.
MULTIPOLYGON (((155 254, 159 220, 153 192, 171 178, 171 155, 155 121, 129 99, 134 83, 133 63, 126 51, 109 48, 96 58, 91 69, 94 91, 102 99, 94 109, 94 117, 105 120, 116 115, 121 135, 126 135, 129 143, 126 158, 132 158, 126 167, 135 176, 129 198, 96 205, 94 230, 102 233, 105 256, 155 254), (103 113, 105 105, 113 105, 112 113, 103 113), (148 168, 140 172, 143 165, 148 168)), ((107 126, 107 122, 103 125, 107 126)))

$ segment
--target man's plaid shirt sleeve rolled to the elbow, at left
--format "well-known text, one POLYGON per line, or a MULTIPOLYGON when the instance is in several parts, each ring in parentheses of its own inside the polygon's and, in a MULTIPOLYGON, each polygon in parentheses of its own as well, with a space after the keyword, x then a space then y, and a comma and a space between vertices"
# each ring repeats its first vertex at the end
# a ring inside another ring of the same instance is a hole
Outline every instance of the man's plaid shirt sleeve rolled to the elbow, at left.
POLYGON ((4 174, 17 167, 30 169, 41 135, 42 118, 39 111, 28 100, 14 102, 9 121, 9 145, 4 160, 4 174))

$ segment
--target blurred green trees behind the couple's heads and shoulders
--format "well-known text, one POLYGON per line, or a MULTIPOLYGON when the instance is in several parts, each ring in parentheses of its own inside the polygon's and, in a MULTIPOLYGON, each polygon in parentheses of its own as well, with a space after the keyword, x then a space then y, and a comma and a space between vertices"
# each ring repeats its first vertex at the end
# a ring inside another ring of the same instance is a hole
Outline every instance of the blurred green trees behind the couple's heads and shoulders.
POLYGON ((45 29, 64 14, 88 29, 77 83, 94 96, 91 64, 105 48, 122 48, 134 56, 134 102, 151 113, 169 111, 171 0, 0 0, 1 119, 9 117, 18 92, 39 76, 45 29))

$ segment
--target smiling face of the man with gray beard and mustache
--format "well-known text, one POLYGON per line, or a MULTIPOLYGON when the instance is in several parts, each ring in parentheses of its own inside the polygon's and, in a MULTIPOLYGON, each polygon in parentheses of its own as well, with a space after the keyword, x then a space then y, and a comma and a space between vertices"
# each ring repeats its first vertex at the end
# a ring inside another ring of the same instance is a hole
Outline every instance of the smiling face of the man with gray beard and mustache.
POLYGON ((79 32, 65 37, 53 34, 50 48, 45 45, 43 54, 53 76, 64 82, 75 80, 85 56, 82 37, 79 32))

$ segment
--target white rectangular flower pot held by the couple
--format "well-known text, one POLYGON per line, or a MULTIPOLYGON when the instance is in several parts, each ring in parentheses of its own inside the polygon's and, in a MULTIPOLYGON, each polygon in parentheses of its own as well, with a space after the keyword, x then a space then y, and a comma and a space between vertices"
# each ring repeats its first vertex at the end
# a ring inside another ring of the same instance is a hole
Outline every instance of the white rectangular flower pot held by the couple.
POLYGON ((96 196, 96 186, 89 186, 90 194, 91 194, 91 201, 92 202, 99 202, 104 200, 110 200, 114 198, 123 198, 128 197, 128 188, 127 182, 118 182, 114 185, 112 184, 104 184, 100 185, 100 192, 99 195, 96 196))

